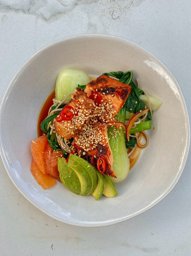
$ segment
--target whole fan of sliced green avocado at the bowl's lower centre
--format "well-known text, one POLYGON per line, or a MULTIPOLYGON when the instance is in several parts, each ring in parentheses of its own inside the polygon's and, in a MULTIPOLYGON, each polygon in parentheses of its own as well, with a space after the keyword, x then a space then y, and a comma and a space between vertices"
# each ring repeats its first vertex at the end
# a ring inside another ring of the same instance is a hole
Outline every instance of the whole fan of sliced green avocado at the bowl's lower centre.
POLYGON ((108 176, 102 175, 89 162, 73 154, 70 154, 68 163, 66 159, 58 158, 58 171, 62 183, 75 194, 92 194, 96 200, 102 194, 106 197, 118 194, 108 176))

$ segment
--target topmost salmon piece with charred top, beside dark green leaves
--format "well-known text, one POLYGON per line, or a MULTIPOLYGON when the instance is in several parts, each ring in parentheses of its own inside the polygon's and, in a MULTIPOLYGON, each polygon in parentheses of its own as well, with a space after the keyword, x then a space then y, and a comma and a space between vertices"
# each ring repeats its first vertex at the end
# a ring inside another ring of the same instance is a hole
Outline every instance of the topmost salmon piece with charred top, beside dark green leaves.
POLYGON ((104 100, 110 100, 116 112, 123 107, 132 87, 111 78, 101 75, 86 85, 85 92, 88 96, 92 93, 99 93, 104 100))

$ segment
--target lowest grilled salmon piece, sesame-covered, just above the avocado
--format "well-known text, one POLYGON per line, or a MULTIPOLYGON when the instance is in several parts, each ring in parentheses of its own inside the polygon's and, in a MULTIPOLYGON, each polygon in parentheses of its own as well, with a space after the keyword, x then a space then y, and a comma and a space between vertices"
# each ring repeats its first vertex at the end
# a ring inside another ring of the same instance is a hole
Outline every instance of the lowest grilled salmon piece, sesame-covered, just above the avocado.
POLYGON ((72 142, 73 152, 82 157, 97 168, 97 160, 102 157, 106 163, 105 175, 117 178, 113 170, 113 155, 109 145, 107 128, 99 128, 92 125, 86 126, 86 130, 77 133, 72 142))

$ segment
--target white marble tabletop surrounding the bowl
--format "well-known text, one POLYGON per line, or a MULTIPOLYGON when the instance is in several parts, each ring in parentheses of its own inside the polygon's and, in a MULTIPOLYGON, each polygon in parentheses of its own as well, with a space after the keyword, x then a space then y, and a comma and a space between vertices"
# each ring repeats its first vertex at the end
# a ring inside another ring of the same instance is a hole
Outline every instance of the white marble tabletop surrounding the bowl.
MULTIPOLYGON (((189 0, 0 1, 0 99, 18 69, 43 46, 70 35, 106 33, 132 40, 162 60, 177 78, 191 115, 190 13, 189 0)), ((190 166, 191 153, 176 187, 149 211, 120 224, 82 228, 29 203, 0 160, 0 255, 189 256, 190 166)))

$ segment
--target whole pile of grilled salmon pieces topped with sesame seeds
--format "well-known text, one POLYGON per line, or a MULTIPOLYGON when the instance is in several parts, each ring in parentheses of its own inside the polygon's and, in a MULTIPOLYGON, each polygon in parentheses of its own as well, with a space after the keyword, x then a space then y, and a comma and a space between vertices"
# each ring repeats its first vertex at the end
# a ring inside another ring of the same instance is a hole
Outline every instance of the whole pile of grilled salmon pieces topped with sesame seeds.
MULTIPOLYGON (((86 85, 83 91, 75 89, 68 103, 73 108, 69 121, 54 121, 56 132, 66 139, 73 138, 73 152, 98 168, 104 159, 104 174, 117 178, 113 170, 113 155, 107 127, 125 104, 132 87, 114 78, 101 75, 86 85)), ((102 168, 102 166, 101 166, 102 168)))

